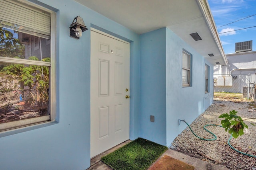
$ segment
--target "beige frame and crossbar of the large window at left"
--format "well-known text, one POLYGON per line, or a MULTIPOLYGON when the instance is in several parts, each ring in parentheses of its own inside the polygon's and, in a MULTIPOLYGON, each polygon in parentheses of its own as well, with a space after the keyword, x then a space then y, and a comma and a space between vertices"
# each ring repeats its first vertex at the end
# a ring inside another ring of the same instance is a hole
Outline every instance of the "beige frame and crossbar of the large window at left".
MULTIPOLYGON (((49 66, 50 78, 49 78, 49 110, 50 115, 34 117, 29 119, 22 119, 19 121, 12 121, 7 123, 0 123, 0 135, 5 132, 15 131, 23 127, 31 127, 32 125, 44 124, 49 122, 56 121, 56 12, 44 8, 43 6, 28 2, 26 0, 19 0, 23 6, 30 6, 35 9, 40 9, 45 12, 48 12, 50 16, 50 59, 51 62, 44 61, 32 61, 27 59, 16 59, 9 57, 1 57, 0 62, 2 63, 16 63, 16 64, 31 64, 31 65, 40 65, 40 66, 49 66)), ((17 131, 18 133, 18 131, 17 131)), ((2 135, 1 135, 2 136, 2 135)))

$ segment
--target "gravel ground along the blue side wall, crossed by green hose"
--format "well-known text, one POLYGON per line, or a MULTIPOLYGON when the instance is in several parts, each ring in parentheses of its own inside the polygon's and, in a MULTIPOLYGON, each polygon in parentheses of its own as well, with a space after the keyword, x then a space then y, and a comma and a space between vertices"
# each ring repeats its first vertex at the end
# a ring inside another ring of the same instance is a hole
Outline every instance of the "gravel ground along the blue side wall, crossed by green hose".
MULTIPOLYGON (((232 102, 215 100, 204 113, 202 113, 195 121, 191 123, 191 128, 196 135, 212 139, 213 135, 203 129, 204 125, 216 124, 220 125, 222 118, 218 118, 222 113, 229 113, 231 110, 238 111, 238 116, 242 119, 256 118, 256 109, 254 102, 232 102)), ((184 123, 184 122, 181 122, 184 123)), ((248 125, 248 129, 244 130, 244 135, 237 139, 232 138, 230 144, 237 150, 247 154, 256 155, 256 126, 250 123, 256 123, 256 119, 244 121, 248 125)), ((220 166, 235 170, 255 170, 256 158, 246 156, 236 152, 228 145, 230 134, 225 132, 223 127, 208 126, 208 130, 217 135, 215 141, 200 140, 193 135, 187 127, 172 143, 172 149, 184 152, 190 156, 200 158, 220 166)))

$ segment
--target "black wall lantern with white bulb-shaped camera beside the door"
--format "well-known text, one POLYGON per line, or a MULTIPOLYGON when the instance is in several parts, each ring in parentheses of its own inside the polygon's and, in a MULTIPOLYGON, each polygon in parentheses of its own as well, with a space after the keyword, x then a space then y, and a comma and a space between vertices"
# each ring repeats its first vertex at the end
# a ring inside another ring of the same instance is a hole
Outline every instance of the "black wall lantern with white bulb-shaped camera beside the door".
POLYGON ((86 31, 88 28, 84 25, 84 20, 77 16, 74 18, 72 24, 70 24, 70 37, 79 39, 82 37, 82 32, 86 31), (76 22, 74 22, 76 20, 76 22))

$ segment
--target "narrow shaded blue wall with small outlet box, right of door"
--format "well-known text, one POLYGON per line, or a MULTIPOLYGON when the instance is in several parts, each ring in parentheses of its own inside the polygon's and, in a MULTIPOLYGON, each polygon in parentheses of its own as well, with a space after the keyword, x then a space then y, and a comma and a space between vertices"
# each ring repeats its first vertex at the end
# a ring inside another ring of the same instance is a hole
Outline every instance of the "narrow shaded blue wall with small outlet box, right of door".
POLYGON ((140 137, 161 145, 166 145, 165 63, 166 28, 140 35, 140 137))

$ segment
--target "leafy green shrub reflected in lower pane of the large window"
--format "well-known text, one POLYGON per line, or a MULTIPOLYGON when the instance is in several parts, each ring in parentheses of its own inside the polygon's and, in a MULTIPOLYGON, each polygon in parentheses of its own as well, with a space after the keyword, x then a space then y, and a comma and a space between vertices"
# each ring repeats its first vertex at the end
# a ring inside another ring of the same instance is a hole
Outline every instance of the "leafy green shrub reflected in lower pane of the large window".
MULTIPOLYGON (((39 61, 35 56, 30 57, 29 60, 39 61)), ((50 58, 42 59, 42 61, 50 61, 50 58)), ((20 82, 22 84, 20 90, 24 90, 24 87, 30 89, 30 94, 28 94, 28 98, 26 99, 27 104, 45 107, 49 98, 49 68, 47 66, 9 64, 2 68, 0 74, 6 77, 6 81, 11 82, 12 80, 17 80, 20 82), (35 91, 35 93, 32 91, 35 91)), ((5 92, 10 91, 10 89, 0 90, 6 90, 5 92)))

